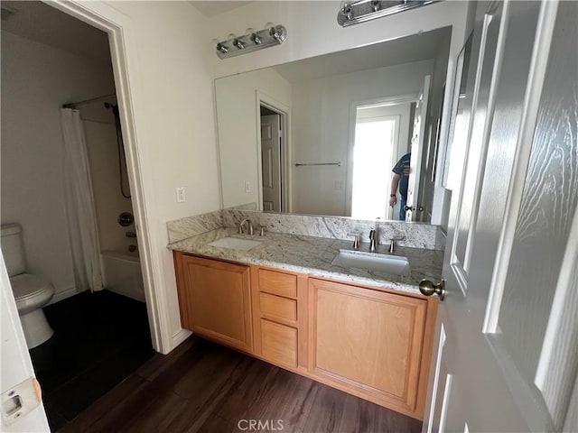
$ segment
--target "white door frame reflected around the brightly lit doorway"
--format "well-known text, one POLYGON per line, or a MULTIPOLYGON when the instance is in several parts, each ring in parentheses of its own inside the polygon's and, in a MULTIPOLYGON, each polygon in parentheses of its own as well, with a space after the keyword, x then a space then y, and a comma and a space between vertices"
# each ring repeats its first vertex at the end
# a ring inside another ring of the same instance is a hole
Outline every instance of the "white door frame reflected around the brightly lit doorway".
MULTIPOLYGON (((360 99, 350 102, 350 127, 347 143, 347 169, 345 175, 345 216, 351 217, 351 200, 353 199, 353 148, 355 147, 355 125, 360 106, 396 106, 398 104, 411 104, 417 101, 419 95, 406 94, 396 97, 377 97, 373 99, 360 99)), ((411 121, 411 119, 410 119, 411 121)), ((399 143, 398 143, 399 144, 399 143)))

